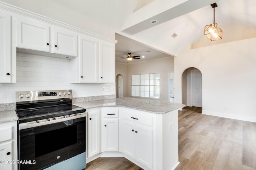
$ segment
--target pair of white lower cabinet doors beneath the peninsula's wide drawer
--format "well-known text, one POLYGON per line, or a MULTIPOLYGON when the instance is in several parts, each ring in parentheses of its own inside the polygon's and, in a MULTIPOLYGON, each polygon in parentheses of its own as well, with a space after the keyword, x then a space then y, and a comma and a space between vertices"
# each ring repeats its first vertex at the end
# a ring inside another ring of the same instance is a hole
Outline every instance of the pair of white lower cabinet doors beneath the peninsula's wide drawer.
POLYGON ((122 152, 149 169, 153 167, 153 128, 122 119, 122 152))

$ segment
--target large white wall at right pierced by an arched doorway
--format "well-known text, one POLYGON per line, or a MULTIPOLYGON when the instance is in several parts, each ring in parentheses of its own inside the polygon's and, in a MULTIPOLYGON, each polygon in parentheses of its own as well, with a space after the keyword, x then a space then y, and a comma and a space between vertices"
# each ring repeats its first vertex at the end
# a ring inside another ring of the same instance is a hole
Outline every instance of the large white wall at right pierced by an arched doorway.
POLYGON ((203 113, 256 122, 255 44, 251 38, 184 49, 174 59, 175 102, 182 102, 182 73, 196 67, 202 72, 203 113))

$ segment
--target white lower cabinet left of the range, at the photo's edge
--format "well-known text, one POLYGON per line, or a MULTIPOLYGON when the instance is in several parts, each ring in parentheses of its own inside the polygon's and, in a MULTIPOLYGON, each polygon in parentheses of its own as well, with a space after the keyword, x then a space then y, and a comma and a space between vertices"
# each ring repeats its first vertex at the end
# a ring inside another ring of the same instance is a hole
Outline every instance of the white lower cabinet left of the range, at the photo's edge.
POLYGON ((16 121, 0 123, 0 160, 0 170, 17 170, 16 121))

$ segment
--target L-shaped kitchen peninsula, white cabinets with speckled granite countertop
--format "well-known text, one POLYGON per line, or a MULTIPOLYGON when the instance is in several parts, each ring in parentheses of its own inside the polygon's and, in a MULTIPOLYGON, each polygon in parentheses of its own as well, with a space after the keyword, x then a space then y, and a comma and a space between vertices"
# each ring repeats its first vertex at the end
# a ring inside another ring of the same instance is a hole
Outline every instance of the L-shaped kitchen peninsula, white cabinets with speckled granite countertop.
POLYGON ((88 112, 87 162, 124 156, 148 170, 171 170, 179 164, 178 109, 185 105, 142 98, 74 100, 88 112))

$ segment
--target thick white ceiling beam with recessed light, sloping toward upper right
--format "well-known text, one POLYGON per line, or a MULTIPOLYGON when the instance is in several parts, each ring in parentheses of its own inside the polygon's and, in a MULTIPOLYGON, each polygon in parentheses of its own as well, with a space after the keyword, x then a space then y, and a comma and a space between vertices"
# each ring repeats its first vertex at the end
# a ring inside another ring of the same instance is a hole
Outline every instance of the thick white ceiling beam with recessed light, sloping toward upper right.
POLYGON ((134 12, 122 27, 122 32, 133 35, 217 1, 219 0, 155 0, 134 12), (151 23, 152 20, 157 22, 151 23))

